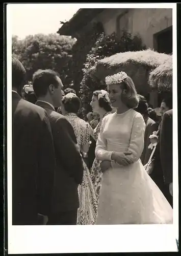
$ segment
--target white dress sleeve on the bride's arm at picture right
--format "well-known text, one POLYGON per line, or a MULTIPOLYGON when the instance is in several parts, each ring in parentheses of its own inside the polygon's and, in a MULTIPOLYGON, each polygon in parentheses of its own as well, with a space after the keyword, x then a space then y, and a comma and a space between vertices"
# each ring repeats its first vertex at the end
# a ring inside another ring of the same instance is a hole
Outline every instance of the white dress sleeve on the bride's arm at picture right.
POLYGON ((132 154, 127 156, 127 158, 133 160, 133 162, 138 161, 142 154, 144 148, 145 126, 142 115, 137 113, 134 117, 130 146, 128 147, 128 152, 131 152, 132 154))

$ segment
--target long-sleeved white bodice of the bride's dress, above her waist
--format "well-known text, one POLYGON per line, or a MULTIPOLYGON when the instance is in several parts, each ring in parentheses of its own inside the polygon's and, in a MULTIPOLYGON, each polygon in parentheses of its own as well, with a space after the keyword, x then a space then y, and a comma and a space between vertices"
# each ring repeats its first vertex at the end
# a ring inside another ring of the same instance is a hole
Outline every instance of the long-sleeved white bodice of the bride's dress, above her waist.
POLYGON ((110 160, 113 151, 132 152, 137 161, 143 151, 145 122, 142 115, 133 109, 122 114, 117 112, 102 120, 96 144, 96 158, 110 160))

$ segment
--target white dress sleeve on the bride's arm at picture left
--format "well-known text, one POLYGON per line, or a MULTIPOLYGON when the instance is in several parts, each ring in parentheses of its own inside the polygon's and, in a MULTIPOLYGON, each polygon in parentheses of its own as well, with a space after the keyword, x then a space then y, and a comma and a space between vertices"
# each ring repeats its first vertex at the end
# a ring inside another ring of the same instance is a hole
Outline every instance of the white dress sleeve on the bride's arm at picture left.
POLYGON ((104 138, 104 127, 105 127, 106 120, 105 118, 102 120, 100 126, 100 132, 98 135, 98 139, 96 142, 95 148, 95 157, 100 161, 111 161, 112 151, 107 151, 107 140, 104 138))

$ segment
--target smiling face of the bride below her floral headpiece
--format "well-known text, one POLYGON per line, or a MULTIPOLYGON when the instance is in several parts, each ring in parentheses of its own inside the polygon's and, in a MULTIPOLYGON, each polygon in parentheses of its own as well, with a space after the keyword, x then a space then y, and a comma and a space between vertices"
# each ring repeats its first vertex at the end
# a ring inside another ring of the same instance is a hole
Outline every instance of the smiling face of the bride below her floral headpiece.
POLYGON ((121 89, 120 84, 111 84, 108 86, 109 98, 113 108, 119 108, 120 104, 122 103, 122 91, 123 90, 121 89))

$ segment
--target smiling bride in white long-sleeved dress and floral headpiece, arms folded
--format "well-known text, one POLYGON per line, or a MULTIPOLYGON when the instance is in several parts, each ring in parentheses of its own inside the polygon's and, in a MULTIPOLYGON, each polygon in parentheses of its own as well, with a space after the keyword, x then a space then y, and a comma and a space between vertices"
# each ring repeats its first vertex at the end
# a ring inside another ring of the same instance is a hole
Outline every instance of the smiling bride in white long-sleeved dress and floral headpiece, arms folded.
POLYGON ((140 160, 145 122, 134 110, 134 83, 120 72, 106 84, 117 112, 102 120, 96 143, 103 172, 96 224, 172 224, 172 207, 140 160))

